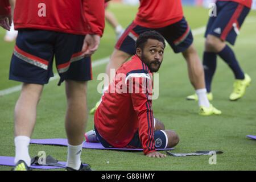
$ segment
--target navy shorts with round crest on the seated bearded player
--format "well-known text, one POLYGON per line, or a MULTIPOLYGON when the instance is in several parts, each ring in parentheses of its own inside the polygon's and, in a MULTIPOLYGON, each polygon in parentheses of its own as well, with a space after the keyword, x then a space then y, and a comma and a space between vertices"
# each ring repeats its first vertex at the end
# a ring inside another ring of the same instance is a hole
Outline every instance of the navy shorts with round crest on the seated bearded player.
MULTIPOLYGON (((101 135, 98 133, 95 126, 94 126, 94 130, 102 146, 104 146, 105 148, 113 148, 111 144, 109 144, 104 138, 101 137, 101 135)), ((155 139, 155 148, 167 148, 168 138, 164 131, 156 130, 154 133, 154 139, 155 139)), ((131 141, 129 142, 129 144, 127 144, 125 148, 142 148, 138 131, 134 134, 133 139, 131 139, 131 141)))

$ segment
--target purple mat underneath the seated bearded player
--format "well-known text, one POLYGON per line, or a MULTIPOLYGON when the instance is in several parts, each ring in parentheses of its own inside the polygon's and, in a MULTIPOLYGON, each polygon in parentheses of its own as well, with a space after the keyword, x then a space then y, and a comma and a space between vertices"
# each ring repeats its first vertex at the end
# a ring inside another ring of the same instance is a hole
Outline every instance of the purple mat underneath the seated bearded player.
MULTIPOLYGON (((51 139, 31 139, 32 144, 49 144, 54 146, 68 146, 68 140, 65 138, 51 138, 51 139)), ((82 148, 101 149, 101 150, 125 150, 125 151, 143 151, 142 148, 105 148, 101 143, 84 142, 82 148)), ((174 150, 174 148, 158 148, 157 150, 174 150)))

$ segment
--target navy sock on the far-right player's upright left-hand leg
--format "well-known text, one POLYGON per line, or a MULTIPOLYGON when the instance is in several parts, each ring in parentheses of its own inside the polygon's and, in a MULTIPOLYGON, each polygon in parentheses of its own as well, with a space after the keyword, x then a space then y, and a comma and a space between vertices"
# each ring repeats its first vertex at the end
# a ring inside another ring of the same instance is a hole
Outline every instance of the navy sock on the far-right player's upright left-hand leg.
POLYGON ((217 54, 214 52, 204 52, 203 65, 204 65, 205 86, 206 86, 207 92, 210 93, 212 78, 217 67, 217 54))

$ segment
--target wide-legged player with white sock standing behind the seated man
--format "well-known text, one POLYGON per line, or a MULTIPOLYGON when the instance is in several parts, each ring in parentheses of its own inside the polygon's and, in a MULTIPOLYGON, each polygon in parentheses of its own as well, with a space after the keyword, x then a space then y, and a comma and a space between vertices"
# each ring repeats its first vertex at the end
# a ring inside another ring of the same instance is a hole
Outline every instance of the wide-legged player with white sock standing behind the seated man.
MULTIPOLYGON (((184 18, 181 0, 141 0, 140 2, 135 20, 126 28, 115 45, 106 73, 110 77, 111 69, 118 69, 135 54, 135 42, 140 34, 148 30, 158 31, 174 52, 181 52, 187 61, 189 79, 199 97, 199 114, 221 114, 221 111, 213 107, 207 98, 203 65, 193 46, 193 35, 184 18)), ((90 113, 94 113, 99 104, 100 101, 90 113)))

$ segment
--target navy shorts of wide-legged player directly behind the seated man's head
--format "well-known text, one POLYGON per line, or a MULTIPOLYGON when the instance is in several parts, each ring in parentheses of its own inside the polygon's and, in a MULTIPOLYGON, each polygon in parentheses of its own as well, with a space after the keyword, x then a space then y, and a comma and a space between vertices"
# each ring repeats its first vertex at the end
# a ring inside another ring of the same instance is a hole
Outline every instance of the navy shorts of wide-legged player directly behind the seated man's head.
POLYGON ((175 53, 184 52, 193 43, 191 28, 188 26, 187 20, 183 17, 179 22, 163 28, 146 28, 133 22, 123 32, 115 48, 129 55, 135 55, 135 45, 138 36, 150 30, 155 30, 163 35, 175 53))

